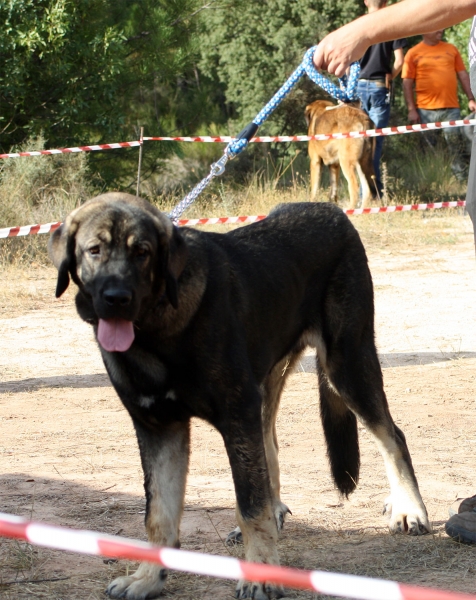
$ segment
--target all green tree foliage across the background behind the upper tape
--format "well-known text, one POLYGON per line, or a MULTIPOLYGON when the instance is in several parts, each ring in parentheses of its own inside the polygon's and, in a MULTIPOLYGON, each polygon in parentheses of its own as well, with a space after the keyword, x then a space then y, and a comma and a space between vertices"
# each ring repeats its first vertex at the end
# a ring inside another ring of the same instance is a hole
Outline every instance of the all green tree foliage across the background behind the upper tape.
MULTIPOLYGON (((310 46, 364 12, 363 0, 1 1, 0 151, 35 136, 46 147, 137 138, 141 125, 237 133, 310 46)), ((463 57, 468 32, 447 32, 463 57)), ((304 77, 263 133, 304 131, 304 107, 319 97, 304 77)), ((167 153, 201 150, 149 144, 144 176, 167 153)), ((109 187, 132 183, 136 160, 136 150, 89 157, 109 187)))

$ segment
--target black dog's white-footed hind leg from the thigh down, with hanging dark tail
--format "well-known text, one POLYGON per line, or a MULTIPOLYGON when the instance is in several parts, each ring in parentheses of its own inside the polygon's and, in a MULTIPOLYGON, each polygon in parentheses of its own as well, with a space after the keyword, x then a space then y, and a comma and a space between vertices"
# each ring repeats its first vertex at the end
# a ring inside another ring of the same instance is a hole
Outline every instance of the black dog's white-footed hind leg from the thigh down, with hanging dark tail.
POLYGON ((321 352, 318 368, 328 452, 336 484, 348 494, 358 475, 357 418, 374 437, 384 459, 391 490, 390 530, 419 535, 431 528, 405 437, 392 420, 383 388, 365 260, 363 249, 358 248, 343 257, 325 301, 326 352, 321 352))

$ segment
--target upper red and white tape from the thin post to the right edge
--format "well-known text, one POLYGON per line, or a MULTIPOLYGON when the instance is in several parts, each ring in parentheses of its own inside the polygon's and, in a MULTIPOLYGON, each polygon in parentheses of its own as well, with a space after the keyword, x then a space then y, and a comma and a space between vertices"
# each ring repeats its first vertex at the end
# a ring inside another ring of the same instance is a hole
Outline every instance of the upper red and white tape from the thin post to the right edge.
MULTIPOLYGON (((399 125, 396 127, 383 127, 382 129, 367 129, 366 131, 347 131, 345 133, 321 133, 317 135, 276 135, 259 136, 252 138, 250 142, 308 142, 310 140, 343 140, 348 138, 379 137, 388 135, 399 135, 402 133, 415 133, 435 129, 448 129, 451 127, 467 127, 476 125, 476 119, 459 119, 457 121, 442 121, 437 123, 421 123, 418 125, 399 125)), ((235 138, 230 136, 194 136, 194 137, 144 137, 144 141, 160 142, 226 142, 235 138)))

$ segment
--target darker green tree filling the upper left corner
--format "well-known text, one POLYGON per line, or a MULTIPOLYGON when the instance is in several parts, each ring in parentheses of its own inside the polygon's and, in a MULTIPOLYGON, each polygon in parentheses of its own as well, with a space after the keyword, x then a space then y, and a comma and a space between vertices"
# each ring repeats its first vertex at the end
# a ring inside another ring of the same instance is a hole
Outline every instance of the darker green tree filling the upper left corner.
POLYGON ((196 8, 196 0, 0 2, 0 149, 40 133, 49 147, 137 135, 157 118, 154 90, 188 68, 196 8))

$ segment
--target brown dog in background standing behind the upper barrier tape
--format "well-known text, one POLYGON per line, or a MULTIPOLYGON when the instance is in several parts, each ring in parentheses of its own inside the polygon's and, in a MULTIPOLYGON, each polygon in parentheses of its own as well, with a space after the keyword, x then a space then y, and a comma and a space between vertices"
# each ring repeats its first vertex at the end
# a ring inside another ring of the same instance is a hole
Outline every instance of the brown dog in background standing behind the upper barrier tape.
MULTIPOLYGON (((335 105, 328 100, 316 100, 306 106, 308 135, 342 133, 372 129, 373 123, 360 108, 348 104, 335 105)), ((321 180, 322 164, 330 169, 330 200, 337 202, 339 167, 349 186, 350 208, 356 208, 359 181, 362 187, 362 208, 370 205, 376 191, 373 168, 374 143, 370 138, 325 140, 309 142, 311 159, 311 200, 316 200, 321 180)))

